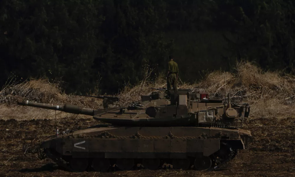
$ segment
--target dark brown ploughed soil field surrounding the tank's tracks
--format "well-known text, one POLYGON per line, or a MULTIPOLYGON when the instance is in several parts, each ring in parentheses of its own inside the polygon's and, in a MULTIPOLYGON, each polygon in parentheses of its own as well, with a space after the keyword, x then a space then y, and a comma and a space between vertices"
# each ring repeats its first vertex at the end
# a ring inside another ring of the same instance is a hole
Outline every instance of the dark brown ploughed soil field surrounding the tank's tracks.
MULTIPOLYGON (((92 171, 68 172, 59 169, 51 160, 40 160, 37 154, 29 151, 24 154, 24 151, 30 147, 31 140, 38 142, 55 133, 54 120, 1 120, 0 176, 294 176, 295 143, 293 137, 289 136, 289 131, 294 131, 294 121, 295 119, 285 119, 275 124, 263 119, 250 120, 247 129, 251 130, 253 136, 259 135, 260 137, 263 132, 265 137, 254 139, 247 150, 240 151, 234 160, 219 171, 140 169, 99 174, 92 171)), ((74 129, 78 129, 96 124, 96 122, 90 118, 74 121, 65 118, 60 119, 58 124, 63 129, 66 129, 69 124, 73 125, 74 129)))

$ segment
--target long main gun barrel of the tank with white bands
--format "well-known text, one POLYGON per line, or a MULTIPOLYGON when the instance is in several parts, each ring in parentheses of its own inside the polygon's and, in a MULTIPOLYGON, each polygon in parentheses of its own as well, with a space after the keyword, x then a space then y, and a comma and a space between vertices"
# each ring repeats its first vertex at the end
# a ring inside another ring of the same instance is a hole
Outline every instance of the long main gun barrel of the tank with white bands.
POLYGON ((73 114, 84 114, 89 116, 94 116, 94 109, 85 109, 81 108, 80 106, 73 105, 73 104, 65 104, 63 106, 53 105, 53 104, 44 104, 44 103, 35 103, 29 100, 19 99, 17 101, 18 105, 22 106, 32 106, 37 108, 44 108, 44 109, 53 109, 73 114))

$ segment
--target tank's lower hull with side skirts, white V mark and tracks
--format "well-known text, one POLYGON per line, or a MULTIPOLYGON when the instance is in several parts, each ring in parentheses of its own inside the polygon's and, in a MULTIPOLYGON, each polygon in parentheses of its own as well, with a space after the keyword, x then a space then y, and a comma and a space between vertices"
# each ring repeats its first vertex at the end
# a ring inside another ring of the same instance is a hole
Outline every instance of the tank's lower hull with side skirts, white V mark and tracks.
POLYGON ((112 166, 151 170, 164 163, 175 169, 213 170, 247 146, 250 132, 209 127, 99 127, 47 140, 47 156, 70 171, 89 167, 106 172, 112 166))

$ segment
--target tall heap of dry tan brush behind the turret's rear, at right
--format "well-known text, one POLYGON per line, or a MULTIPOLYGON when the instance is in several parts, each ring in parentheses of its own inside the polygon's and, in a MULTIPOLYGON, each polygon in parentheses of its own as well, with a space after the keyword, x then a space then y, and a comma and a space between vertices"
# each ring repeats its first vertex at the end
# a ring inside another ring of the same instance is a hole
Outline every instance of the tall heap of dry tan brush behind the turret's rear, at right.
POLYGON ((216 71, 209 74, 197 84, 197 88, 224 99, 224 74, 227 93, 232 100, 249 102, 252 116, 281 119, 294 115, 294 76, 263 72, 249 62, 242 62, 237 63, 233 73, 216 71))

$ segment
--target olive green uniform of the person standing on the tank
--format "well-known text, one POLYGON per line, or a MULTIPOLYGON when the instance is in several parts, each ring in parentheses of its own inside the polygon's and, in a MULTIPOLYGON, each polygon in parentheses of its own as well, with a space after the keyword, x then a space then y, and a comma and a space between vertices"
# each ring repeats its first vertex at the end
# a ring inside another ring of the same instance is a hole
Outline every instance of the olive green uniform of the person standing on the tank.
POLYGON ((167 77, 167 90, 168 93, 171 92, 171 85, 173 86, 173 91, 177 92, 177 74, 179 72, 178 65, 175 61, 171 60, 168 62, 169 75, 167 77))

